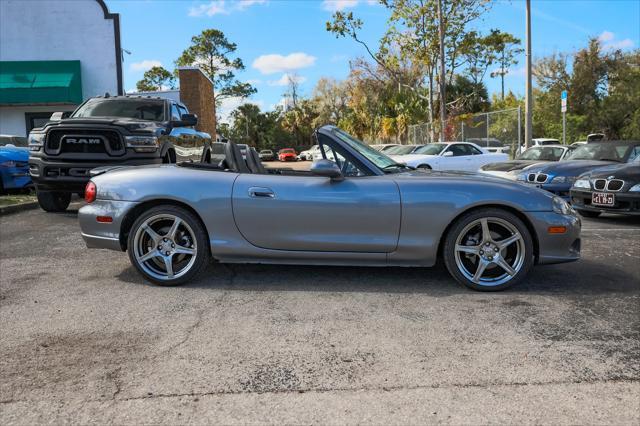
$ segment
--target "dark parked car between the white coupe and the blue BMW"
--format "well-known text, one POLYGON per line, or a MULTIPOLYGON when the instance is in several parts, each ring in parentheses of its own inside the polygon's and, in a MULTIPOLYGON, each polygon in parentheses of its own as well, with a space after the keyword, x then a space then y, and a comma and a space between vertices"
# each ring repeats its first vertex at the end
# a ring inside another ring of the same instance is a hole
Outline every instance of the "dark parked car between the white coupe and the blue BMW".
POLYGON ((515 160, 489 163, 480 167, 481 173, 500 176, 506 179, 516 180, 525 167, 534 164, 561 161, 570 158, 575 148, 565 145, 534 146, 524 151, 515 160))

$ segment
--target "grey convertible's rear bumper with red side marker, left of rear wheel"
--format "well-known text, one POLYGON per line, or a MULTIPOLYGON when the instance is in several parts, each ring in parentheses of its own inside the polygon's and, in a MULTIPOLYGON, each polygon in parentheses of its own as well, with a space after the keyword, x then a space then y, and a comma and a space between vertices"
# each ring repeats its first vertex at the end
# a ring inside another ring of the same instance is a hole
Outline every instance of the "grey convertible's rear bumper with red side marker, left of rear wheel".
POLYGON ((126 240, 121 238, 120 229, 127 213, 136 204, 132 201, 96 200, 80 208, 78 222, 87 247, 124 251, 126 240), (113 222, 98 222, 98 216, 110 216, 113 222))

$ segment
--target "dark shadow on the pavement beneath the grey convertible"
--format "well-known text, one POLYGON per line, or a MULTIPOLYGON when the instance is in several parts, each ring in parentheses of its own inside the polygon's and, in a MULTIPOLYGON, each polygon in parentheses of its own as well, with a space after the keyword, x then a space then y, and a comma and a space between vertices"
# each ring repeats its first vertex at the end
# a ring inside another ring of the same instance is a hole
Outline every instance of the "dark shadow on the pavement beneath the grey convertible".
MULTIPOLYGON (((158 287, 144 280, 133 267, 118 279, 158 287)), ((581 260, 533 268, 521 283, 507 289, 514 294, 607 294, 640 292, 638 275, 614 266, 581 260)), ((158 287, 159 288, 159 287, 158 287)), ((183 288, 231 291, 320 291, 354 293, 420 293, 433 297, 473 292, 458 284, 442 263, 432 268, 373 268, 222 264, 211 262, 203 273, 183 288)), ((480 292, 476 294, 482 294, 480 292)))

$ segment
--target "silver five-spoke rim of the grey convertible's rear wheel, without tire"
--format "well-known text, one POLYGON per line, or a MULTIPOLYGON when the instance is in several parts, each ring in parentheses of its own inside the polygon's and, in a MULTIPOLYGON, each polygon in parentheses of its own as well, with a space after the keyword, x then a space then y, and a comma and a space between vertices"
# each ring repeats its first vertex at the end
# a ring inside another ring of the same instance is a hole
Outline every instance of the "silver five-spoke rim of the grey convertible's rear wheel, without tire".
POLYGON ((169 281, 191 269, 198 247, 187 222, 172 214, 159 214, 138 227, 133 249, 140 268, 158 280, 169 281))

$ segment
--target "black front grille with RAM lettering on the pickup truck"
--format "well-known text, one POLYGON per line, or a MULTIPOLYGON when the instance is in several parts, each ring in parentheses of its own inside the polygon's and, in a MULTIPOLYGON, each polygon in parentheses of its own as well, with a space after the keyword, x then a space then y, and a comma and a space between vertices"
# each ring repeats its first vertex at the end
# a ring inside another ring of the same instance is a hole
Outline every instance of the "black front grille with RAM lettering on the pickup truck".
POLYGON ((47 154, 123 155, 124 144, 114 130, 54 129, 47 133, 47 154))

